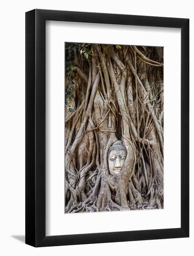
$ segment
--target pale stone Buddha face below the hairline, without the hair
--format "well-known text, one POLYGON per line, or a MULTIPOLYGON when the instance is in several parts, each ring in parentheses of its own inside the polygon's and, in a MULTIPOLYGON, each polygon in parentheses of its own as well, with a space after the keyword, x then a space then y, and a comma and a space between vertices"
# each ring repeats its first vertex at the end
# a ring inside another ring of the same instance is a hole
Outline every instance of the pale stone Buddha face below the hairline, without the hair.
POLYGON ((117 175, 120 173, 125 162, 126 156, 126 151, 123 149, 111 150, 111 152, 108 155, 108 167, 111 175, 117 175))

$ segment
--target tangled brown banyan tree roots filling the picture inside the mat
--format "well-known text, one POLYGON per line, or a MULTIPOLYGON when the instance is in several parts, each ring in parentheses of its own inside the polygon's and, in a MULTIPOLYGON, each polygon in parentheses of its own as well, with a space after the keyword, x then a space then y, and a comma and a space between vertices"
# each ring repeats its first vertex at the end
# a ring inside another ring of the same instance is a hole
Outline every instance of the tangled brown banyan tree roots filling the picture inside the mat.
POLYGON ((163 208, 163 47, 65 56, 65 213, 163 208))

